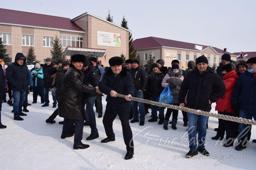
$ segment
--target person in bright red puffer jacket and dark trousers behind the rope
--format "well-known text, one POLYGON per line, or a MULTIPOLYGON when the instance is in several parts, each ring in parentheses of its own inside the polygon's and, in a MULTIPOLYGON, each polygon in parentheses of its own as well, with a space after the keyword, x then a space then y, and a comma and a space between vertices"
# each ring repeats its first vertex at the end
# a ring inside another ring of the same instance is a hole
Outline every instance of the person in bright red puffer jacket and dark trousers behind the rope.
MULTIPOLYGON (((238 75, 235 71, 235 66, 232 63, 227 63, 222 67, 222 78, 226 86, 226 92, 222 98, 216 101, 215 110, 219 114, 235 116, 234 110, 231 108, 231 96, 237 83, 238 75)), ((220 119, 217 135, 213 138, 223 139, 226 130, 226 143, 224 147, 233 146, 234 139, 238 135, 238 123, 220 119)), ((213 139, 212 138, 212 139, 213 139)))

